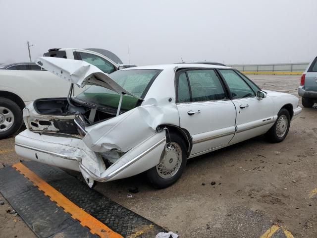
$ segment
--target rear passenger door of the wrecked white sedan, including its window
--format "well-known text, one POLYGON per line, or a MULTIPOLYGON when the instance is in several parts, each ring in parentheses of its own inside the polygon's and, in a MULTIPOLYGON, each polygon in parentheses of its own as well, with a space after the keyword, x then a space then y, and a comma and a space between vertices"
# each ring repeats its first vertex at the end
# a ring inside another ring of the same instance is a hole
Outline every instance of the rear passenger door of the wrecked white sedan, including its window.
POLYGON ((235 133, 235 107, 214 69, 176 73, 180 126, 193 137, 191 156, 227 145, 235 133))

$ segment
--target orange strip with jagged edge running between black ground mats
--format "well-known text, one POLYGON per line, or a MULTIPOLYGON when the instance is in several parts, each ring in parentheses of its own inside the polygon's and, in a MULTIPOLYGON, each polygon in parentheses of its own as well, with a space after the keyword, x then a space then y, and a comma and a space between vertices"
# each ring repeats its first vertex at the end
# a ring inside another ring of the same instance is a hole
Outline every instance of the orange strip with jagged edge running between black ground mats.
POLYGON ((92 234, 96 234, 101 238, 123 238, 120 234, 115 233, 104 223, 100 222, 71 202, 67 197, 59 193, 55 188, 34 174, 22 163, 14 164, 12 167, 24 175, 24 177, 29 179, 39 188, 39 190, 43 191, 45 195, 49 196, 59 207, 62 207, 65 212, 70 213, 72 218, 79 220, 82 226, 88 227, 92 234))

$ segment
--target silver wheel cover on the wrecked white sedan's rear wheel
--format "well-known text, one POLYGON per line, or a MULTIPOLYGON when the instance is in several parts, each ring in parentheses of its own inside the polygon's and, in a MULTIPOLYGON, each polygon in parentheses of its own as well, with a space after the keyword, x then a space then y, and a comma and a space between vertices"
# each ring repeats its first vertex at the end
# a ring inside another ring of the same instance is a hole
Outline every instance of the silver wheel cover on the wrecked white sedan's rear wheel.
POLYGON ((179 170, 183 159, 182 149, 179 144, 170 142, 166 147, 166 153, 157 165, 157 172, 162 179, 172 178, 179 170))

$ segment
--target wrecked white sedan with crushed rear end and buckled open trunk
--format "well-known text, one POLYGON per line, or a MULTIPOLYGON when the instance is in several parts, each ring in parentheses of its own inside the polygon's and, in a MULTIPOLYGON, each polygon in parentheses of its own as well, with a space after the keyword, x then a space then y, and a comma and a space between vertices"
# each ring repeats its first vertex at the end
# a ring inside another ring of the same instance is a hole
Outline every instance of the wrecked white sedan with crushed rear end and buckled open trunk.
POLYGON ((180 178, 188 158, 265 134, 282 141, 298 98, 263 91, 234 68, 139 66, 106 75, 84 61, 40 57, 55 75, 88 89, 38 99, 23 111, 18 155, 80 171, 89 186, 146 172, 158 188, 180 178))

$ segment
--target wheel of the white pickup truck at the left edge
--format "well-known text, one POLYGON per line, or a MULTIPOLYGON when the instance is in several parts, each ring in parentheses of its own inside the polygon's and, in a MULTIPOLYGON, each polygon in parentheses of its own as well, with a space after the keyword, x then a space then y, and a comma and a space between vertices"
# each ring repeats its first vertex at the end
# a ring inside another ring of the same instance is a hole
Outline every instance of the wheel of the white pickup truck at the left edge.
POLYGON ((7 98, 0 98, 0 139, 13 135, 21 124, 20 107, 7 98))

